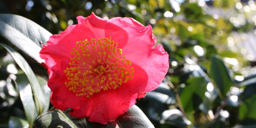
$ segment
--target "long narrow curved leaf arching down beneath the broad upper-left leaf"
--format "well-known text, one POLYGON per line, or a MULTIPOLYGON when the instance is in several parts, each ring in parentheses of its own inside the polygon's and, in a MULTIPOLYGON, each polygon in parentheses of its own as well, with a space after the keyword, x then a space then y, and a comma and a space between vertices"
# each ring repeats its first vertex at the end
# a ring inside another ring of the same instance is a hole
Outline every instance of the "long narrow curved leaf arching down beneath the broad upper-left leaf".
POLYGON ((37 108, 37 114, 41 114, 43 110, 45 109, 45 98, 44 94, 42 93, 41 87, 37 81, 37 78, 35 77, 34 72, 30 68, 29 64, 26 62, 26 60, 13 48, 11 48, 8 45, 1 44, 9 54, 11 54, 12 58, 16 61, 16 63, 19 65, 19 67, 25 72, 27 75, 27 78, 29 80, 29 83, 31 85, 32 93, 34 96, 34 102, 35 107, 37 108))

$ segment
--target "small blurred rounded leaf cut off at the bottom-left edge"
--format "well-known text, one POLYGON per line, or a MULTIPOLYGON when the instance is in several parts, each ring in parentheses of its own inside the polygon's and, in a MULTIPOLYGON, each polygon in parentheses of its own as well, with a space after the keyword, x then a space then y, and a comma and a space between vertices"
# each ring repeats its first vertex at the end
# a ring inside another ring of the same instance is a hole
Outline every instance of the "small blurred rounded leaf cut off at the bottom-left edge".
POLYGON ((19 117, 10 117, 9 123, 8 123, 8 128, 28 128, 29 123, 19 117))

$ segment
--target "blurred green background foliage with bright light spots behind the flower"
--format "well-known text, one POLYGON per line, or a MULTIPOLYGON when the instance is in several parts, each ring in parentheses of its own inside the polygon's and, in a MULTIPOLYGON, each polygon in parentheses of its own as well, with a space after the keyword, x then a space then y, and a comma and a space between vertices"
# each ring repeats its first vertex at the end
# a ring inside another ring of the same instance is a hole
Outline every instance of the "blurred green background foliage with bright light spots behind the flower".
MULTIPOLYGON (((0 14, 24 16, 52 34, 91 12, 151 25, 169 53, 162 84, 136 104, 156 128, 256 127, 255 1, 0 0, 0 14)), ((18 50, 3 37, 0 42, 18 50)), ((44 68, 22 56, 47 79, 44 68)), ((0 47, 0 127, 25 119, 14 82, 23 71, 17 67, 0 47)))

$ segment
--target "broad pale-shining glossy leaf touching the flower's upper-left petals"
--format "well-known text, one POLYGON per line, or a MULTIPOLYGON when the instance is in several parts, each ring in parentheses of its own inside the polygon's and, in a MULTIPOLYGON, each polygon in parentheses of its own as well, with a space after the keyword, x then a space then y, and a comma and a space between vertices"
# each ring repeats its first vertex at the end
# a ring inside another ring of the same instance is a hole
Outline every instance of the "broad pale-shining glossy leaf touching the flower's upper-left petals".
POLYGON ((0 14, 0 34, 39 64, 44 62, 39 51, 52 34, 43 27, 22 16, 0 14))

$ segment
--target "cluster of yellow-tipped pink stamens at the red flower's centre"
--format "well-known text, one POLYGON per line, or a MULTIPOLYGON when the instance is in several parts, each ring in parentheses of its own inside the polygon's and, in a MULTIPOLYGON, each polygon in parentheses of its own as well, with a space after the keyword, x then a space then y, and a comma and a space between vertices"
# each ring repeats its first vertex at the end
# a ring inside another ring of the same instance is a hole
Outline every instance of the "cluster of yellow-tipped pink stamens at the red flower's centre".
POLYGON ((77 41, 71 51, 69 65, 64 73, 65 85, 76 96, 86 95, 108 89, 117 89, 132 79, 134 73, 131 61, 125 59, 118 43, 109 38, 77 41))

